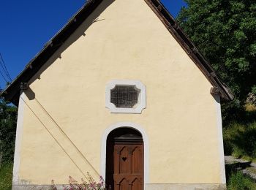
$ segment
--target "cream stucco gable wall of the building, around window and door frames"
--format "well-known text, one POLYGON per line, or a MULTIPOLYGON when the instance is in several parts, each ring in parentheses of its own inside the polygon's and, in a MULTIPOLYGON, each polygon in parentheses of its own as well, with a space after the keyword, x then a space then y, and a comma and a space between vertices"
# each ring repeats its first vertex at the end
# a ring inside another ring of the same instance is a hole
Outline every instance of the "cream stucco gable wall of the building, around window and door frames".
POLYGON ((18 183, 67 183, 100 172, 102 135, 138 123, 149 183, 223 183, 211 83, 143 0, 103 1, 25 91, 18 183), (105 108, 110 80, 140 80, 141 114, 105 108))

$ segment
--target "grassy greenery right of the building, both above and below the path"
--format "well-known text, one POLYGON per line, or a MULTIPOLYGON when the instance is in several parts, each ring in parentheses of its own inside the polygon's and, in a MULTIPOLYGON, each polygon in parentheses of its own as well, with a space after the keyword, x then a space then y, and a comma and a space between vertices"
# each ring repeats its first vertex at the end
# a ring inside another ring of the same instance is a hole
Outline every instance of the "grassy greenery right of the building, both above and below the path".
MULTIPOLYGON (((233 155, 256 162, 256 107, 246 104, 242 120, 229 123, 223 129, 225 155, 233 155)), ((255 169, 252 172, 255 172, 255 169)), ((256 190, 256 183, 238 171, 236 166, 226 165, 227 190, 256 190)))

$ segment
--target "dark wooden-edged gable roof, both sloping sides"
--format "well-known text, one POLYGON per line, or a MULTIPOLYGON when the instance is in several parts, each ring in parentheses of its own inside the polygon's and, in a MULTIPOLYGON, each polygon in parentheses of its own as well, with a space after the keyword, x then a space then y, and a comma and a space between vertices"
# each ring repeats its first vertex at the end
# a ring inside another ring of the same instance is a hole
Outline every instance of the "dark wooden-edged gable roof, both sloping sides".
MULTIPOLYGON (((20 86, 23 83, 29 82, 39 69, 53 56, 53 53, 61 47, 61 45, 70 37, 70 35, 83 23, 86 18, 89 17, 91 12, 97 8, 97 6, 104 0, 89 0, 86 4, 80 8, 80 10, 69 19, 68 23, 61 28, 61 30, 45 45, 45 47, 35 56, 25 69, 10 83, 3 91, 1 96, 9 100, 15 105, 18 105, 20 96, 20 86)), ((195 62, 197 67, 203 72, 209 82, 212 84, 212 94, 219 94, 222 100, 233 100, 233 94, 230 89, 227 88, 225 83, 222 82, 220 77, 214 72, 214 69, 208 64, 206 58, 197 50, 195 45, 189 40, 184 31, 178 26, 176 20, 167 11, 165 6, 159 0, 144 0, 149 7, 155 12, 162 23, 165 25, 170 34, 177 40, 177 42, 183 47, 190 58, 195 62)))

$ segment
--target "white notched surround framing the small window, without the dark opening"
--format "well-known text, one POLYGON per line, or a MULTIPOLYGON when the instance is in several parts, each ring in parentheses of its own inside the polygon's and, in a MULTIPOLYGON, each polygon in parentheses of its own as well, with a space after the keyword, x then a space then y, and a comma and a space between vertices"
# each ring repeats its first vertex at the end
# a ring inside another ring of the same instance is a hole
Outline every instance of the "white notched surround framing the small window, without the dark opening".
POLYGON ((140 80, 111 80, 105 88, 105 107, 110 109, 110 113, 141 113, 146 108, 146 86, 140 80), (110 102, 110 90, 116 86, 136 86, 140 89, 138 104, 133 108, 116 107, 110 102))

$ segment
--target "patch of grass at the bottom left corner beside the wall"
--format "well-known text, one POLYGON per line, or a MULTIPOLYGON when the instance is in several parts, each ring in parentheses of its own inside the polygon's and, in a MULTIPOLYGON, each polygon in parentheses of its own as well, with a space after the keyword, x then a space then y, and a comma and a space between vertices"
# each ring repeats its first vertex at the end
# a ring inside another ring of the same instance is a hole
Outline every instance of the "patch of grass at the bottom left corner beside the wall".
POLYGON ((0 167, 0 189, 12 189, 12 164, 2 164, 0 167))

